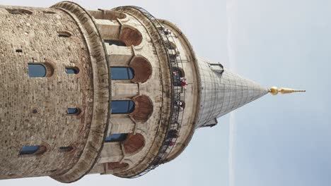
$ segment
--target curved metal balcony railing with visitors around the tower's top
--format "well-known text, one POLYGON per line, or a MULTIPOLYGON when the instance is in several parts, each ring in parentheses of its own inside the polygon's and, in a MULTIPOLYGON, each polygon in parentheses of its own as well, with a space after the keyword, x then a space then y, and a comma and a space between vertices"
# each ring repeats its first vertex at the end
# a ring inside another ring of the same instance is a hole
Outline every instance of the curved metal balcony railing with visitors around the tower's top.
MULTIPOLYGON (((144 8, 140 8, 137 6, 129 6, 129 7, 135 8, 137 11, 143 13, 144 16, 146 16, 146 18, 148 18, 151 21, 151 23, 153 23, 153 26, 156 28, 156 30, 158 30, 158 34, 160 35, 163 41, 163 47, 168 56, 170 72, 172 73, 170 77, 172 81, 171 89, 173 92, 173 94, 171 95, 172 103, 170 106, 171 118, 167 126, 167 132, 165 135, 165 139, 163 140, 163 144, 158 151, 158 155, 153 159, 153 161, 151 161, 149 166, 138 175, 134 175, 131 177, 131 178, 137 178, 140 177, 141 175, 148 173, 149 171, 153 170, 154 168, 162 164, 165 161, 165 159, 168 157, 168 154, 170 154, 170 152, 173 150, 173 147, 175 146, 174 144, 178 140, 178 133, 180 132, 180 127, 182 125, 183 110, 184 110, 181 108, 181 106, 179 106, 178 103, 180 101, 185 101, 185 90, 182 89, 182 87, 180 87, 180 75, 176 73, 176 70, 182 68, 182 63, 187 63, 187 60, 183 61, 177 49, 172 48, 171 43, 175 44, 175 39, 173 33, 171 33, 170 30, 164 27, 156 18, 154 18, 151 15, 151 13, 146 11, 144 8)), ((158 133, 156 135, 158 135, 158 133)))

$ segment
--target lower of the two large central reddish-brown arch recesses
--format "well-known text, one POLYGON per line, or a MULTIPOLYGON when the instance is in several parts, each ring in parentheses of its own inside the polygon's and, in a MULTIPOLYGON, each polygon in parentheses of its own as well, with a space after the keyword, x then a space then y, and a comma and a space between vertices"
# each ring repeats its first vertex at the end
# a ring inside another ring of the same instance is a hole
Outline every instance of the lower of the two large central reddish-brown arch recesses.
POLYGON ((153 102, 146 95, 140 95, 132 99, 135 104, 134 111, 130 116, 140 122, 145 122, 153 113, 153 102))

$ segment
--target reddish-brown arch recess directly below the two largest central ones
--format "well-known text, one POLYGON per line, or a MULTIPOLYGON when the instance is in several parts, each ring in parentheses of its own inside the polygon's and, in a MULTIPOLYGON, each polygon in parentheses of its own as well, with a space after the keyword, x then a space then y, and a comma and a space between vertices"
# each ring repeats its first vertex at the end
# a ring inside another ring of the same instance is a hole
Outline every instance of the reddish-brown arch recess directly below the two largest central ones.
POLYGON ((122 142, 125 154, 136 154, 145 146, 145 138, 143 135, 129 134, 127 139, 122 142))

